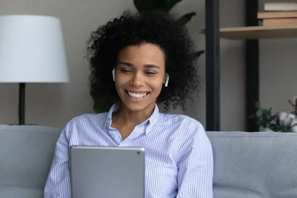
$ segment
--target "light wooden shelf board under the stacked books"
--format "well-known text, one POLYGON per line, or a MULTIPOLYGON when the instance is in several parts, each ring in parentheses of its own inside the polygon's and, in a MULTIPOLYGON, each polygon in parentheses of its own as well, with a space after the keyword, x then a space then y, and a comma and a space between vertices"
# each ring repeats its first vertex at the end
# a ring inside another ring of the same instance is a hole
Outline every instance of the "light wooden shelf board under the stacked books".
MULTIPOLYGON (((205 30, 202 30, 205 34, 205 30)), ((231 40, 297 38, 297 26, 220 28, 220 37, 231 40)))

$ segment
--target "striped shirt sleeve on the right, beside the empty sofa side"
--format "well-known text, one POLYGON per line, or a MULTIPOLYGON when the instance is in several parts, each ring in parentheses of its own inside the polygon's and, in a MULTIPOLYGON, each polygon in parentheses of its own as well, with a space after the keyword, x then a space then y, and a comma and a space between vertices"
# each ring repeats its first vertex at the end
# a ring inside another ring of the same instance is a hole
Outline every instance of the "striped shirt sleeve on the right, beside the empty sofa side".
POLYGON ((213 153, 203 126, 190 120, 180 144, 176 198, 212 198, 213 153))

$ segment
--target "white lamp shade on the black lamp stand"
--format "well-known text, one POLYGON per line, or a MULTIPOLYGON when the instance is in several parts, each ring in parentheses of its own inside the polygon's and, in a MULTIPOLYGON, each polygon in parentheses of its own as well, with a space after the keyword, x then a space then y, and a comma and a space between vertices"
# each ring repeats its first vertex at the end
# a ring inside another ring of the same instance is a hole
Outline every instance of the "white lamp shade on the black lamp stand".
POLYGON ((0 82, 69 82, 58 18, 0 16, 0 82))

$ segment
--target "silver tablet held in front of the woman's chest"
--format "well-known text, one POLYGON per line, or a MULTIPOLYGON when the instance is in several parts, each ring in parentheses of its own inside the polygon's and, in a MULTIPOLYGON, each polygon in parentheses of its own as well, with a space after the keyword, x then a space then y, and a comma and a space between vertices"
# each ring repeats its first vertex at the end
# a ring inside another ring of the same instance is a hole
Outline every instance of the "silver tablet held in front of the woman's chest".
POLYGON ((71 198, 145 198, 144 148, 70 148, 71 198))

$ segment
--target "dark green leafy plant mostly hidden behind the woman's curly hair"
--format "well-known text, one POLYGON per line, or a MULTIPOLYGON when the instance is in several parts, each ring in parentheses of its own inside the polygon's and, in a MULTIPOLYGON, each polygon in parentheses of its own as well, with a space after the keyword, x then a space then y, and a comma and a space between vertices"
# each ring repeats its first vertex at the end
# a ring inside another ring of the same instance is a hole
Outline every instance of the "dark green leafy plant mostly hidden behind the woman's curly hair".
MULTIPOLYGON (((152 10, 160 10, 164 12, 170 12, 170 10, 182 0, 133 0, 134 5, 138 12, 146 12, 152 10)), ((182 15, 179 20, 185 25, 196 16, 196 12, 190 12, 182 15)), ((204 53, 204 50, 199 50, 195 52, 197 58, 204 53)), ((114 101, 102 101, 97 99, 94 101, 93 110, 96 113, 102 113, 109 110, 114 101)))

